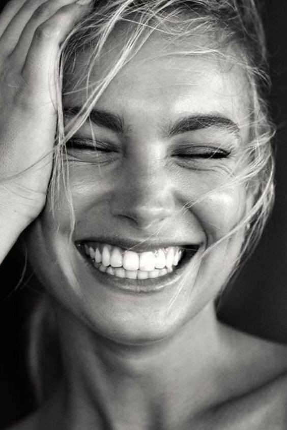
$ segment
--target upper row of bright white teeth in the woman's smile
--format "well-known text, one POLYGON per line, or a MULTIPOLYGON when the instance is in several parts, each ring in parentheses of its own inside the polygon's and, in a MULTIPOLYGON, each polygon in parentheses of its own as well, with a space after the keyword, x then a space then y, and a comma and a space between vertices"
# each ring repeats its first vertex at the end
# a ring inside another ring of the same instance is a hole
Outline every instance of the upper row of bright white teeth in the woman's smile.
POLYGON ((171 269, 173 266, 177 266, 183 253, 179 247, 160 248, 155 251, 137 253, 95 242, 86 242, 84 251, 92 260, 105 267, 123 267, 125 270, 148 272, 154 269, 171 269))

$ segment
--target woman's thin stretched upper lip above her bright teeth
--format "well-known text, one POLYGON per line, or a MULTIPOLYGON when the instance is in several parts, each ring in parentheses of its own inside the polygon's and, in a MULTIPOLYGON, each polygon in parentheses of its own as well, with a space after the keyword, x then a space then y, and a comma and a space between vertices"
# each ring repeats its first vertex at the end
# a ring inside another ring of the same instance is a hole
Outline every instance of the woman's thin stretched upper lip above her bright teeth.
POLYGON ((127 239, 120 237, 85 237, 80 240, 76 240, 76 244, 80 244, 81 242, 99 242, 99 243, 108 243, 115 247, 119 247, 125 250, 134 250, 137 252, 146 252, 146 251, 154 251, 160 248, 169 248, 169 247, 180 247, 183 249, 197 249, 200 246, 200 243, 196 242, 183 242, 177 240, 151 240, 151 239, 127 239))

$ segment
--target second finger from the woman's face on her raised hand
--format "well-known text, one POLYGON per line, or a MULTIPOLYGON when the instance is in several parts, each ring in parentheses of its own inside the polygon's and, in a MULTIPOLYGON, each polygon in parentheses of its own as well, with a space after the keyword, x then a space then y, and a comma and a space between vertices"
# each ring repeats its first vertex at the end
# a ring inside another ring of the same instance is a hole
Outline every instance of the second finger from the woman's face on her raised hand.
MULTIPOLYGON (((49 18, 51 18, 57 11, 59 11, 60 8, 74 3, 75 0, 49 0, 40 5, 34 11, 32 16, 24 26, 19 40, 13 51, 13 56, 18 59, 18 63, 23 63, 37 28, 49 18)), ((78 7, 78 9, 81 8, 78 7)))

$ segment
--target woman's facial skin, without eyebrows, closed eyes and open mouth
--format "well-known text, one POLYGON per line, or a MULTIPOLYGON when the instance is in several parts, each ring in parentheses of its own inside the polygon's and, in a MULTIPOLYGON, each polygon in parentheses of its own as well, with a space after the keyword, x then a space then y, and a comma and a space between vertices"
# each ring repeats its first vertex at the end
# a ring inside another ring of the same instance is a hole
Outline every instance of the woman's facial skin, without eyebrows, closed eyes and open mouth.
MULTIPOLYGON (((128 133, 116 134, 96 125, 91 131, 89 124, 78 133, 90 139, 94 133, 97 140, 108 141, 116 149, 102 156, 105 158, 100 163, 95 163, 93 150, 69 150, 76 219, 73 241, 108 235, 138 243, 147 241, 153 249, 169 241, 195 243, 200 244, 200 255, 208 244, 228 233, 246 210, 245 188, 225 186, 236 173, 247 141, 248 100, 243 91, 246 82, 239 71, 222 75, 219 65, 208 58, 177 58, 167 51, 166 58, 154 59, 164 49, 167 47, 161 39, 151 40, 111 82, 97 103, 97 109, 121 116, 128 133), (199 74, 199 70, 205 73, 199 74), (235 80, 241 81, 242 86, 236 94, 235 80), (174 124, 187 115, 214 112, 234 120, 240 128, 239 137, 226 128, 216 127, 165 137, 169 123, 174 124), (232 147, 232 154, 222 160, 185 156, 188 150, 194 151, 194 146, 201 145, 201 153, 210 146, 216 149, 218 142, 223 150, 230 151, 232 147), (173 156, 180 149, 185 151, 184 156, 173 156), (193 204, 192 209, 185 209, 199 199, 202 201, 193 204)), ((82 61, 79 71, 74 71, 75 76, 80 76, 82 61)), ((105 61, 109 62, 106 56, 100 62, 103 70, 105 61)), ((92 79, 96 80, 97 73, 96 69, 92 79)), ((80 106, 84 97, 84 91, 77 91, 65 99, 65 105, 80 106)), ((244 238, 241 229, 234 238, 218 245, 199 269, 198 258, 194 259, 185 276, 171 288, 158 294, 127 294, 95 282, 69 241, 69 207, 64 190, 60 195, 62 201, 55 208, 55 221, 48 201, 34 225, 28 243, 33 266, 52 295, 72 306, 84 323, 125 344, 164 339, 203 309, 224 284, 244 238), (56 229, 56 224, 60 229, 56 229), (222 270, 223 259, 228 264, 222 270), (54 267, 55 261, 61 263, 54 267), (75 278, 80 283, 82 297, 76 288, 67 292, 66 285, 75 282, 75 278), (181 284, 181 292, 176 296, 181 284)))

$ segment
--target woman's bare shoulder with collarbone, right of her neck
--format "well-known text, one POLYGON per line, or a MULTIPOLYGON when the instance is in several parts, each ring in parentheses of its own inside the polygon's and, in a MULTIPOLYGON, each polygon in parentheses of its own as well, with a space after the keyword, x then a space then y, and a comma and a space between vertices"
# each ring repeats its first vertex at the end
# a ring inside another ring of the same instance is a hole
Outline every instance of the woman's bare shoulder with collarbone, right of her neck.
POLYGON ((214 430, 287 428, 287 346, 222 327, 225 400, 214 408, 214 430), (226 381, 228 383, 226 384, 226 381))

